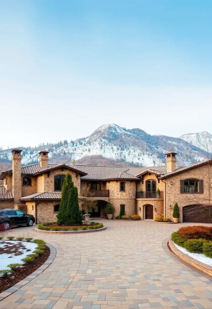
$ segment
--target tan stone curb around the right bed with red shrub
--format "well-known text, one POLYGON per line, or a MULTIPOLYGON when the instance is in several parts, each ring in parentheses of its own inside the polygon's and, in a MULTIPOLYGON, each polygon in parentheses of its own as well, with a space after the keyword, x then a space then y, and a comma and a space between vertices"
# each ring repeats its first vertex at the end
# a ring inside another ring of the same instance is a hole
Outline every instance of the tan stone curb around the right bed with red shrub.
POLYGON ((177 249, 171 239, 169 239, 169 246, 174 254, 179 256, 182 260, 187 262, 188 264, 200 269, 204 273, 207 273, 208 275, 212 276, 212 267, 209 265, 206 265, 204 263, 201 263, 200 261, 197 261, 196 259, 193 259, 192 257, 188 256, 187 254, 181 252, 179 249, 177 249))

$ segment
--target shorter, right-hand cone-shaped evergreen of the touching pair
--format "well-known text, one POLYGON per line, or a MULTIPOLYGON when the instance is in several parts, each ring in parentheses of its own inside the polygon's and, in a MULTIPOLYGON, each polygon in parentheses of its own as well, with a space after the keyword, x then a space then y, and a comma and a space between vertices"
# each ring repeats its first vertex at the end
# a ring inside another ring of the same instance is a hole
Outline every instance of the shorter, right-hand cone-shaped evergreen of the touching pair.
POLYGON ((82 225, 82 214, 78 203, 77 188, 71 188, 66 208, 66 225, 82 225))

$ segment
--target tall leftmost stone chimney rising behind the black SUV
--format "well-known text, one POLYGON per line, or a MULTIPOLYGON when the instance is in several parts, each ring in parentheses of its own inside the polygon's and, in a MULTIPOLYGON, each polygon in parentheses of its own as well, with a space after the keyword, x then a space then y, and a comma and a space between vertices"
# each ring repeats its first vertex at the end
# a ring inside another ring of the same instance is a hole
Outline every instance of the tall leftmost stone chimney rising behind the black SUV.
POLYGON ((12 152, 12 195, 14 197, 14 205, 20 204, 21 197, 21 149, 13 149, 12 152))

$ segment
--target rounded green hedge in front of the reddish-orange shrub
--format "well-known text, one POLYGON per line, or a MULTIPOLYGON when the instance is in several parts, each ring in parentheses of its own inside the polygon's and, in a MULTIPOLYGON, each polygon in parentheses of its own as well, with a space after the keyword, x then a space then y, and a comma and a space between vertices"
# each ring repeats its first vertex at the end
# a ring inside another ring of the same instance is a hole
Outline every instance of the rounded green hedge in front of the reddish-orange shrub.
POLYGON ((203 253, 205 256, 212 258, 212 241, 205 239, 183 239, 179 232, 171 234, 171 240, 178 246, 185 248, 191 253, 203 253))

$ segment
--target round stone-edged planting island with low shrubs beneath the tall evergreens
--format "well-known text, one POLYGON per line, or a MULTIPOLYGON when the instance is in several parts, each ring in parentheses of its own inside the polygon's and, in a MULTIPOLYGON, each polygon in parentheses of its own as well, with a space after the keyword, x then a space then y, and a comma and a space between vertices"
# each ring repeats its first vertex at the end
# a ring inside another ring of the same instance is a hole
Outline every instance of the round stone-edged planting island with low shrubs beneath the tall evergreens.
POLYGON ((37 233, 57 233, 57 234, 71 234, 71 233, 87 233, 98 232, 106 229, 103 223, 91 222, 90 224, 82 225, 57 225, 56 222, 46 222, 38 224, 38 227, 34 229, 37 233))

